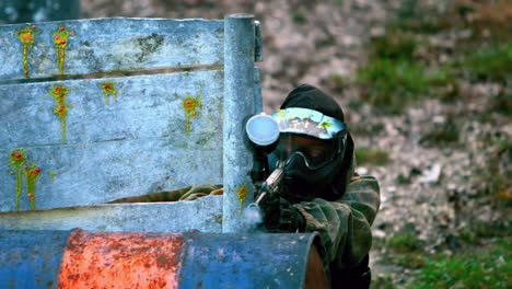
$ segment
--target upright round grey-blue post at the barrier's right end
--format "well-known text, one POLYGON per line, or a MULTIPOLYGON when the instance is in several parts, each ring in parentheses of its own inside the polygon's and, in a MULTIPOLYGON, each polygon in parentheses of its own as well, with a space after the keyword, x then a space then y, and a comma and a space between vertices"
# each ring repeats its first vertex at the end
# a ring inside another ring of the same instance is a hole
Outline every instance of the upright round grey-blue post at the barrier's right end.
POLYGON ((243 208, 253 200, 253 155, 243 119, 254 113, 254 16, 224 20, 223 232, 240 232, 243 208))

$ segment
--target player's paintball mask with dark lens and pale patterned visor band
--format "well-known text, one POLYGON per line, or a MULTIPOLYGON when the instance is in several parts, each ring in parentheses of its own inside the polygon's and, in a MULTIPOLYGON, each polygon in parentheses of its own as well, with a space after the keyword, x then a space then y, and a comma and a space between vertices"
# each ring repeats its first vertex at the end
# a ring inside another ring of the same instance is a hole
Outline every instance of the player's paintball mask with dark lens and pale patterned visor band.
POLYGON ((329 194, 345 165, 346 124, 302 107, 280 109, 272 117, 281 132, 274 154, 284 162, 287 199, 300 203, 329 194))

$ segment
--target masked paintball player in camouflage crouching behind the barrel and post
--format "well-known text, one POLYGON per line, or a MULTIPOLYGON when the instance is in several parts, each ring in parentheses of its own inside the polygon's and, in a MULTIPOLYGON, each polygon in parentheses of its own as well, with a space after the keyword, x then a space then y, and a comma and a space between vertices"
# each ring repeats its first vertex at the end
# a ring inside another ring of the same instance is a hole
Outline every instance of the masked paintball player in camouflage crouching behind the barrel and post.
POLYGON ((331 288, 369 288, 379 183, 354 173, 354 143, 341 107, 302 84, 280 108, 272 115, 281 132, 272 154, 286 161, 284 194, 261 207, 264 224, 274 232, 318 232, 331 288))

